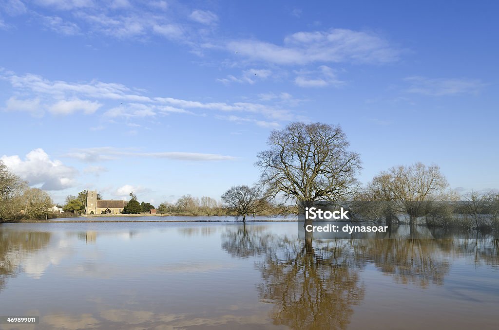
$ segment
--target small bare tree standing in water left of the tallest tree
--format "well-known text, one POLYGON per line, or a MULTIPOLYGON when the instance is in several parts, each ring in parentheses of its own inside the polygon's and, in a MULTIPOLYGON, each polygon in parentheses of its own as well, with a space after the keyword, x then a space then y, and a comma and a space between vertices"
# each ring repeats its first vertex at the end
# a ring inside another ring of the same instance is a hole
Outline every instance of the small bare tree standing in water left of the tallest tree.
POLYGON ((268 205, 258 186, 247 185, 233 186, 224 192, 222 201, 230 211, 243 216, 243 222, 247 215, 261 212, 268 205))

